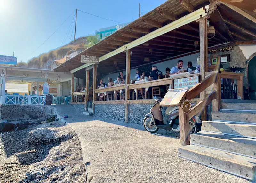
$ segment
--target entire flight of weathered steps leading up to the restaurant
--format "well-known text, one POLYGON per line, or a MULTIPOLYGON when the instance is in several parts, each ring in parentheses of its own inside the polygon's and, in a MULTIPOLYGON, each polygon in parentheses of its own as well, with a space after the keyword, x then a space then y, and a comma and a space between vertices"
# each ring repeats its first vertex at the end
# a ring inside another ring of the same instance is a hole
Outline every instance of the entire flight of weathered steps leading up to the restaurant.
POLYGON ((232 100, 221 108, 190 134, 178 156, 256 182, 256 101, 232 100))

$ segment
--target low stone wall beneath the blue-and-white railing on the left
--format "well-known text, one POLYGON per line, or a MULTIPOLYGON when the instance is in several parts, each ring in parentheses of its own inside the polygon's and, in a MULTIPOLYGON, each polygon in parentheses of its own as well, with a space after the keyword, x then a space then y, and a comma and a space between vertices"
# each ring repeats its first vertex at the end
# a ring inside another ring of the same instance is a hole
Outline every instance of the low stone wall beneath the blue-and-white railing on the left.
POLYGON ((55 116, 56 108, 45 105, 0 105, 1 120, 46 119, 55 116))

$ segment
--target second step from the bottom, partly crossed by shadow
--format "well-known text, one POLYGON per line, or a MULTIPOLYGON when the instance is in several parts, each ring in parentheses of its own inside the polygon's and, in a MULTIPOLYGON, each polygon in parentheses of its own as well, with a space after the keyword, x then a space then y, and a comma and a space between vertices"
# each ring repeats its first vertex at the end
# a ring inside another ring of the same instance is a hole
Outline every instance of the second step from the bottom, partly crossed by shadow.
POLYGON ((207 131, 190 134, 190 144, 256 158, 256 139, 207 131))

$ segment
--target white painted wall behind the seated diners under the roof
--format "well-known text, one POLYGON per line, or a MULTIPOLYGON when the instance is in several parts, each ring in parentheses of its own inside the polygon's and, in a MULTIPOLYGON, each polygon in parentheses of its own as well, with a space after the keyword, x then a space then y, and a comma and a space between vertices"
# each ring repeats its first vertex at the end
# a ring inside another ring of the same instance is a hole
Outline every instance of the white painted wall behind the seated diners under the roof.
MULTIPOLYGON (((169 67, 170 69, 174 66, 177 66, 177 61, 178 60, 183 60, 184 63, 183 63, 183 66, 185 67, 185 69, 188 68, 188 62, 192 62, 193 66, 196 67, 197 65, 197 62, 196 62, 196 59, 198 57, 199 53, 196 53, 196 54, 192 54, 192 55, 188 55, 188 56, 185 56, 185 57, 180 57, 180 58, 177 58, 177 59, 173 59, 173 60, 168 60, 168 61, 165 61, 165 62, 161 62, 161 63, 157 63, 157 64, 153 64, 153 65, 156 65, 158 70, 162 71, 163 74, 165 74, 165 69, 167 67, 169 67)), ((135 79, 135 74, 136 74, 136 69, 132 69, 131 70, 131 74, 130 74, 130 78, 131 79, 135 79)), ((125 75, 125 71, 123 71, 124 75, 125 75)), ((112 73, 112 74, 109 74, 107 76, 105 76, 103 78, 103 81, 104 83, 108 83, 108 77, 111 77, 114 80, 116 80, 117 76, 119 76, 119 73, 112 73)))

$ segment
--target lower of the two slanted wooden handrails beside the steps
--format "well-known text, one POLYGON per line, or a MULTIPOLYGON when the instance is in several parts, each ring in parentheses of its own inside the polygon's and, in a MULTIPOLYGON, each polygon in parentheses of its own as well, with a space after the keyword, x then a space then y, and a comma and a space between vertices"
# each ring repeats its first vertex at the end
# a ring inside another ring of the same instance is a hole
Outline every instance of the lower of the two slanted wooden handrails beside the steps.
POLYGON ((212 100, 216 99, 216 97, 217 97, 217 92, 213 91, 204 100, 196 104, 188 113, 188 119, 191 119, 194 115, 201 112, 204 109, 204 107, 207 106, 212 100))

